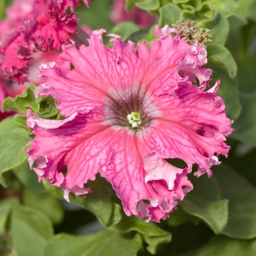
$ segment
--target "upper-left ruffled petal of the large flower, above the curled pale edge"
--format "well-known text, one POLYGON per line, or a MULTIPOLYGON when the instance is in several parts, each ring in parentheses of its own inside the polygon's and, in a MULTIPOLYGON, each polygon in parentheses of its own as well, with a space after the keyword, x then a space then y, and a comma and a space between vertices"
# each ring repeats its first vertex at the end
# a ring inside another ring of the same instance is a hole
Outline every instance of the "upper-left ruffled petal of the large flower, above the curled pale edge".
POLYGON ((40 83, 35 90, 36 97, 53 95, 58 101, 56 107, 64 116, 70 116, 76 111, 89 113, 95 108, 102 109, 102 97, 105 93, 89 84, 84 86, 85 83, 68 80, 65 78, 67 72, 67 69, 60 69, 53 62, 42 64, 39 75, 44 76, 45 81, 40 83), (98 97, 94 97, 95 95, 98 97))

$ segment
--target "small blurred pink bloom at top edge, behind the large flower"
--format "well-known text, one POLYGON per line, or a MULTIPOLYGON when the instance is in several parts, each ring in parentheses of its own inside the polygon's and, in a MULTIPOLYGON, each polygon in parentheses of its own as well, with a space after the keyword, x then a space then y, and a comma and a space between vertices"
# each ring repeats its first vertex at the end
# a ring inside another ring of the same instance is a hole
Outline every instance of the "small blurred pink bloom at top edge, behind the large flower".
POLYGON ((113 23, 119 23, 121 21, 131 20, 138 25, 142 26, 143 29, 147 29, 156 18, 153 15, 148 14, 144 10, 140 10, 138 7, 132 7, 130 12, 125 10, 126 0, 114 0, 113 1, 113 10, 111 11, 110 18, 113 20, 113 23))

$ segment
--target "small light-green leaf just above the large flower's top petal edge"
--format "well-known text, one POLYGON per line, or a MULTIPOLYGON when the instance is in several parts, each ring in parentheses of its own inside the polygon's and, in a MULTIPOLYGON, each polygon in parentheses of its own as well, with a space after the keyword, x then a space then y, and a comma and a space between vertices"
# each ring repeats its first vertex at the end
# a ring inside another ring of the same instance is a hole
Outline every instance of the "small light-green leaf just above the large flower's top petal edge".
POLYGON ((135 32, 140 31, 140 26, 132 21, 124 21, 113 26, 111 33, 121 36, 123 42, 127 41, 129 37, 135 32))

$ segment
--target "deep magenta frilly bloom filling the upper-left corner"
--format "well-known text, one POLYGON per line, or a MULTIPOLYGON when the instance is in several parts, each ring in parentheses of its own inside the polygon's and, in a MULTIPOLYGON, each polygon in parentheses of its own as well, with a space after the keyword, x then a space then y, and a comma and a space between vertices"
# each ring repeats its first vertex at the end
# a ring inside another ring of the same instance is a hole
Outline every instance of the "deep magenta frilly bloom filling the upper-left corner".
MULTIPOLYGON (((83 1, 89 6, 89 0, 83 1)), ((78 0, 15 0, 0 22, 0 77, 23 83, 34 52, 60 50, 69 43, 76 33, 78 5, 78 0)))

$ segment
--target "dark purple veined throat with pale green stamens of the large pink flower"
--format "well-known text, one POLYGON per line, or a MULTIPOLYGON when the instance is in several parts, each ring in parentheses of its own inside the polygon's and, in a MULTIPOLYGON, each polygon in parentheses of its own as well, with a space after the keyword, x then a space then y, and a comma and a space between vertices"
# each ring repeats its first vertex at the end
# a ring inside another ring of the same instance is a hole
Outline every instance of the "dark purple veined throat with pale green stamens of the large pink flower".
POLYGON ((143 86, 110 89, 109 97, 103 98, 103 124, 110 125, 112 129, 127 129, 127 132, 142 138, 157 124, 161 115, 152 99, 154 97, 143 86))

